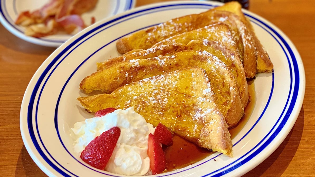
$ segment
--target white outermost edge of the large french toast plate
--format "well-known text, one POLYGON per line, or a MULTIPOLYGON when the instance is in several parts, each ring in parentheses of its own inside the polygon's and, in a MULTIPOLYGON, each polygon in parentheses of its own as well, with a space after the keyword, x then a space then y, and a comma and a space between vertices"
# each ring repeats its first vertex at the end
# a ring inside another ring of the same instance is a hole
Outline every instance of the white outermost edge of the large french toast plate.
MULTIPOLYGON (((187 3, 193 3, 193 4, 196 4, 196 2, 195 1, 183 1, 183 2, 185 2, 186 4, 187 3)), ((159 6, 159 5, 163 5, 163 4, 179 4, 180 2, 171 2, 171 3, 157 3, 157 4, 150 4, 150 5, 147 5, 147 6, 142 6, 142 7, 140 7, 140 8, 135 8, 134 10, 132 10, 132 11, 135 11, 135 10, 139 10, 139 9, 144 9, 144 8, 149 8, 149 7, 155 7, 155 6, 159 6)), ((201 3, 198 3, 198 4, 201 4, 201 3)), ((204 3, 202 3, 202 4, 204 4, 204 3)), ((207 4, 214 4, 214 3, 207 3, 207 4)), ((180 4, 180 5, 183 5, 183 4, 180 4)), ((247 13, 247 14, 250 14, 250 15, 252 15, 252 16, 254 16, 254 17, 258 17, 259 19, 262 19, 262 20, 264 20, 264 22, 268 22, 266 19, 264 19, 264 18, 262 18, 262 17, 260 17, 260 16, 258 16, 258 15, 256 15, 256 14, 254 14, 254 13, 251 13, 251 12, 249 12, 249 11, 246 11, 245 10, 245 12, 247 13)), ((123 14, 128 14, 129 12, 125 12, 125 13, 123 13, 123 14)), ((117 15, 117 16, 114 16, 114 17, 119 17, 119 16, 122 16, 123 14, 121 14, 121 15, 117 15)), ((114 17, 112 17, 111 19, 114 19, 114 17)), ((102 22, 106 22, 106 21, 109 21, 110 19, 108 19, 108 20, 102 20, 102 22)), ((270 22, 268 22, 268 23, 270 23, 270 22)), ((101 24, 101 23, 100 23, 101 24)), ((99 24, 98 24, 99 25, 99 24)), ((280 33, 280 37, 284 37, 284 38, 286 38, 283 42, 289 42, 289 47, 291 46, 291 48, 293 47, 293 49, 294 49, 294 51, 292 51, 293 52, 293 55, 294 56, 296 56, 296 60, 298 60, 298 59, 300 59, 300 62, 302 62, 301 61, 301 57, 300 57, 300 55, 298 54, 298 52, 297 52, 297 50, 296 50, 296 48, 295 48, 295 46, 293 45, 293 43, 289 40, 289 38, 287 37, 287 36, 285 36, 285 34, 281 31, 281 30, 279 30, 276 26, 274 26, 274 25, 272 25, 271 23, 270 24, 268 24, 268 25, 270 25, 271 26, 271 28, 272 29, 276 29, 276 31, 275 32, 277 32, 277 33, 280 33)), ((90 27, 89 28, 89 30, 90 29, 92 29, 92 28, 95 28, 94 26, 97 26, 97 25, 93 25, 93 27, 90 27)), ((77 36, 77 35, 76 35, 77 36)), ((80 33, 80 36, 81 36, 81 33, 80 33)), ((73 39, 73 38, 72 38, 73 39)), ((76 43, 75 41, 74 41, 74 39, 72 40, 72 42, 67 42, 67 43, 70 43, 70 44, 72 44, 72 43, 76 43)), ((68 46, 70 45, 70 44, 67 44, 68 46)), ((66 46, 66 44, 64 45, 64 46, 66 46)), ((60 49, 59 49, 60 50, 60 49)), ((62 50, 65 50, 65 49, 62 49, 62 50)), ((55 52, 57 52, 57 50, 55 51, 55 52)), ((50 58, 50 59, 53 59, 54 57, 52 57, 54 54, 56 54, 56 53, 53 53, 51 56, 49 56, 48 58, 50 58)), ((46 62, 46 61, 45 61, 46 62)), ((44 63, 45 63, 44 62, 44 63)), ((51 62, 51 61, 48 61, 48 62, 51 62)), ((43 63, 43 65, 44 65, 44 63, 43 63)), ((42 66, 43 66, 42 65, 42 66)), ((40 68, 42 68, 42 66, 40 67, 40 68)), ((299 98, 302 98, 301 99, 301 101, 299 102, 299 105, 297 106, 297 107, 295 107, 294 106, 294 108, 297 108, 296 110, 295 110, 295 112, 293 112, 293 113, 295 113, 295 120, 294 121, 291 121, 291 124, 289 125, 289 129, 288 129, 288 131, 287 131, 287 133, 286 133, 286 135, 284 136, 281 136, 281 137, 283 137, 282 138, 282 141, 284 140, 284 138, 287 136, 287 134, 289 133, 289 130, 291 130, 292 129, 292 127, 293 127, 293 125, 294 125, 294 123, 295 123, 295 121, 296 121, 296 119, 297 119, 297 117, 298 117, 298 115, 299 115, 299 113, 300 113, 300 110, 301 110, 301 106, 302 106, 302 100, 303 100, 303 98, 304 98, 304 93, 305 93, 305 73, 304 73, 304 67, 303 67, 303 64, 300 64, 300 67, 299 67, 299 65, 297 66, 298 67, 298 69, 299 69, 299 71, 300 72, 298 72, 300 75, 301 75, 301 77, 299 78, 299 80, 301 80, 302 81, 302 86, 301 87, 299 87, 299 88, 302 88, 302 90, 300 90, 300 91, 298 91, 298 93, 300 94, 300 97, 299 98)), ((39 68, 39 69, 40 69, 39 68)), ((38 69, 38 70, 39 70, 38 69)), ((46 68, 43 68, 43 69, 46 69, 46 68)), ((34 74, 34 76, 37 74, 37 72, 34 74)), ((33 77, 34 77, 33 76, 33 77)), ((32 80, 33 80, 33 78, 32 78, 32 80)), ((31 81, 32 81, 31 80, 31 81)), ((35 79, 36 80, 36 79, 35 79)), ((30 81, 30 84, 31 84, 31 81, 30 81)), ((301 84, 300 84, 301 85, 301 84)), ((299 86, 300 86, 299 85, 299 86)), ((28 86, 28 88, 29 88, 29 86, 28 86)), ((26 91, 27 91, 27 89, 26 89, 26 91)), ((23 98, 23 102, 24 102, 24 98, 23 98)), ((22 105, 23 105, 23 102, 22 102, 22 105)), ((22 115, 22 107, 21 107, 21 115, 22 115)), ((22 119, 22 117, 20 117, 20 120, 22 119)), ((21 129, 21 133, 22 133, 22 129, 21 129)), ((24 139, 23 139, 23 141, 24 141, 24 139)), ((276 144, 276 145, 274 145, 273 146, 273 150, 272 151, 269 151, 269 154, 266 156, 266 158, 282 143, 282 141, 278 141, 278 143, 276 144), (276 147, 275 147, 276 146, 276 147)), ((273 141, 274 142, 274 141, 273 141)), ((266 159, 265 158, 265 159, 266 159)), ((263 160, 265 160, 265 159, 262 159, 261 160, 261 162, 263 161, 263 160)), ((261 162, 259 162, 259 163, 261 163, 261 162)), ((259 164, 258 163, 258 164, 259 164)), ((258 165, 257 164, 257 165, 258 165)), ((38 165, 38 164, 37 164, 38 165)), ((253 168, 254 168, 255 166, 253 166, 253 168)), ((248 170, 249 171, 249 170, 248 170)), ((247 172, 247 171, 246 171, 247 172)), ((246 173, 246 172, 244 172, 244 173, 246 173)), ((243 173, 243 174, 244 174, 243 173)))

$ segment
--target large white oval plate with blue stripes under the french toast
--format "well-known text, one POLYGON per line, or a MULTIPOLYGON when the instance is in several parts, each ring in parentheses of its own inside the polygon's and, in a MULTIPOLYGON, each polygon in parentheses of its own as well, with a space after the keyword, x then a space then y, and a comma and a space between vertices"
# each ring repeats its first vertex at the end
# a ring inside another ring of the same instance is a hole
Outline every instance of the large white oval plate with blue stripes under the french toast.
MULTIPOLYGON (((76 100, 80 81, 96 71, 96 62, 116 57, 115 41, 171 18, 222 5, 211 1, 152 4, 102 20, 61 45, 31 79, 21 106, 20 129, 27 151, 49 176, 120 176, 91 168, 72 150, 69 129, 91 118, 76 100)), ((240 176, 265 160, 284 140, 300 113, 305 74, 292 42, 276 26, 244 10, 274 64, 258 74, 255 107, 233 138, 234 157, 214 153, 198 163, 156 176, 240 176), (215 160, 214 160, 215 159, 215 160)))

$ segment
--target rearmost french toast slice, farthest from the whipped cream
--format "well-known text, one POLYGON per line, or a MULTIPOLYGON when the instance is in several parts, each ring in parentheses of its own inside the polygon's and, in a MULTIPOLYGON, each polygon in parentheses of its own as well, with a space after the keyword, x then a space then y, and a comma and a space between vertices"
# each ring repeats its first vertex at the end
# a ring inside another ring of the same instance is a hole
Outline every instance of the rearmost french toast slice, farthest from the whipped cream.
POLYGON ((225 23, 231 28, 232 34, 241 39, 242 43, 239 44, 243 46, 239 49, 244 58, 243 64, 247 78, 254 77, 256 72, 272 71, 273 65, 268 54, 255 36, 252 26, 241 11, 241 5, 237 2, 226 3, 200 14, 182 16, 146 30, 140 30, 119 39, 116 44, 117 50, 120 53, 126 53, 133 49, 147 49, 171 36, 214 23, 225 23))

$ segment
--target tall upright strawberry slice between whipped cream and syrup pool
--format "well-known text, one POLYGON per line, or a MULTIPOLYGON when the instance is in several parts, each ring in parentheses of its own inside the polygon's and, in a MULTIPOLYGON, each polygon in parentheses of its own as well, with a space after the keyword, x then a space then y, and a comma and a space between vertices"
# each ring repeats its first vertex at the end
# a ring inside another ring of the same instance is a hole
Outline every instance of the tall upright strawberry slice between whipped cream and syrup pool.
POLYGON ((166 158, 162 149, 162 144, 154 135, 152 135, 152 133, 149 134, 147 154, 150 158, 152 174, 162 173, 166 168, 166 158))

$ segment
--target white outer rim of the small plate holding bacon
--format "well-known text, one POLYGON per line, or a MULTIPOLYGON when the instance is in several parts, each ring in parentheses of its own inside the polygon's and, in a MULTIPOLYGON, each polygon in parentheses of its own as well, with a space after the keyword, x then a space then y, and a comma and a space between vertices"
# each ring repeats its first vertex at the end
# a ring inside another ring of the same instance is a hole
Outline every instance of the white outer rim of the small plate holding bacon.
MULTIPOLYGON (((5 3, 8 2, 8 1, 9 0, 0 0, 0 23, 10 33, 12 33, 14 36, 17 36, 17 37, 19 37, 20 39, 22 39, 24 41, 27 41, 27 42, 30 42, 30 43, 33 43, 33 44, 37 44, 37 45, 40 45, 40 46, 46 46, 46 47, 60 47, 60 45, 65 43, 68 39, 70 39, 71 37, 75 36, 75 35, 72 36, 72 35, 66 34, 66 36, 69 36, 69 37, 67 37, 67 39, 64 40, 64 39, 54 39, 54 38, 46 39, 46 37, 35 38, 35 37, 24 35, 23 31, 17 29, 16 26, 19 26, 19 25, 15 25, 15 24, 11 23, 10 20, 8 20, 8 18, 11 18, 11 17, 9 15, 6 15, 6 13, 3 12, 3 11, 6 11, 5 3)), ((12 3, 14 3, 15 1, 16 0, 13 0, 12 3)), ((121 10, 123 10, 122 12, 125 12, 125 11, 128 11, 128 10, 134 8, 135 7, 135 3, 136 3, 136 0, 117 0, 117 1, 118 1, 118 3, 116 4, 117 7, 119 6, 119 2, 120 1, 124 1, 124 2, 120 2, 120 3, 126 3, 125 4, 125 9, 121 9, 121 10)), ((121 13, 121 11, 117 10, 115 13, 116 14, 114 14, 113 16, 121 13)), ((110 18, 110 17, 112 17, 112 16, 108 16, 105 19, 110 18)), ((102 20, 103 19, 100 19, 98 21, 102 21, 102 20)))

